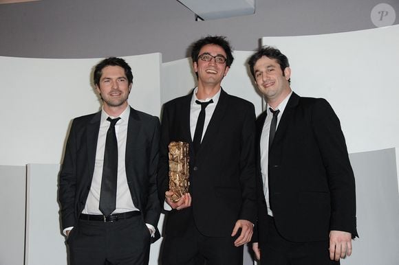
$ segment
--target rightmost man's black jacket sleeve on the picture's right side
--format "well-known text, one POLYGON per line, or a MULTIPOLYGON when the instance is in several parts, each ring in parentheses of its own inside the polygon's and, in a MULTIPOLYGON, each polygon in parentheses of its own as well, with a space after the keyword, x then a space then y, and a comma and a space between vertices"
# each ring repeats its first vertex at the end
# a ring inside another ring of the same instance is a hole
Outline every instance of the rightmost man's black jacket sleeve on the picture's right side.
POLYGON ((332 213, 330 230, 356 231, 356 192, 352 166, 338 117, 326 100, 317 100, 312 126, 327 173, 332 213))

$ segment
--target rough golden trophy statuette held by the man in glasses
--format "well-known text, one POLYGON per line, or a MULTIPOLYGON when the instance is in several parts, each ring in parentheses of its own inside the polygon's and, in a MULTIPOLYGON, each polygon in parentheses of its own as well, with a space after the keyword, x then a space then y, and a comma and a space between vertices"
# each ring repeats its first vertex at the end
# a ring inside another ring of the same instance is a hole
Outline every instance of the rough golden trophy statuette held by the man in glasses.
POLYGON ((188 192, 188 143, 172 141, 169 143, 169 198, 173 203, 188 192))

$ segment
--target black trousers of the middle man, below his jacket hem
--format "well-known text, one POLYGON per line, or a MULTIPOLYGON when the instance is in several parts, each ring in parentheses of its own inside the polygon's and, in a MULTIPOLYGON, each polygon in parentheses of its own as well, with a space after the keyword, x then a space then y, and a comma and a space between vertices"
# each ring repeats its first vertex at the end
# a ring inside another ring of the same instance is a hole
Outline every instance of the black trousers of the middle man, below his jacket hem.
POLYGON ((202 235, 191 220, 184 235, 164 237, 162 265, 242 265, 244 246, 234 246, 237 237, 202 235))

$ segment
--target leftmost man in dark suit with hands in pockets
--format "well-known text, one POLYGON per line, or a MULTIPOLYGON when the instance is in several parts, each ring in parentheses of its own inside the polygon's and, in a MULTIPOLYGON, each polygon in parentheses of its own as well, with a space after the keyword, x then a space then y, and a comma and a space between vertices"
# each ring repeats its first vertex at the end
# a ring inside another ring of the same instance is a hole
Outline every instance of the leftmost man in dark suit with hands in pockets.
POLYGON ((159 238, 160 123, 129 106, 132 80, 125 60, 101 61, 94 84, 103 109, 72 122, 59 200, 73 265, 148 264, 159 238))

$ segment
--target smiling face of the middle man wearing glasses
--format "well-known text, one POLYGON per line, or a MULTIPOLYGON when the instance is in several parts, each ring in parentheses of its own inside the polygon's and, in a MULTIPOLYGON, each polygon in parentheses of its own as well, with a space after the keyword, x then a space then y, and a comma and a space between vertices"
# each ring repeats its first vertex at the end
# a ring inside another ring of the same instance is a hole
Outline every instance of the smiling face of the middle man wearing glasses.
MULTIPOLYGON (((207 44, 200 49, 200 55, 210 54, 211 56, 224 56, 226 52, 219 45, 207 44)), ((215 62, 215 58, 210 61, 204 61, 201 58, 193 63, 194 71, 198 74, 198 87, 220 86, 222 79, 226 76, 229 67, 226 67, 226 62, 215 62)))

